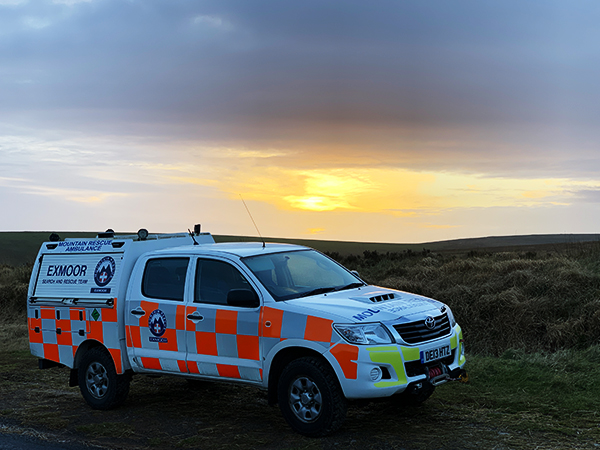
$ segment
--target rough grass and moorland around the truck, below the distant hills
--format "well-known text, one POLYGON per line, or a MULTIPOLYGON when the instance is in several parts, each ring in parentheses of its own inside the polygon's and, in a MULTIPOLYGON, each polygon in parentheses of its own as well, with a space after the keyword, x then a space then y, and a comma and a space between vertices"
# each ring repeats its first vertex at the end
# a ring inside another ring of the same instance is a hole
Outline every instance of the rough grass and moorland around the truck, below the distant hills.
POLYGON ((600 243, 364 245, 322 250, 370 283, 449 304, 465 333, 468 383, 440 386, 421 408, 352 405, 343 429, 319 440, 291 432, 255 389, 171 377, 135 377, 123 407, 92 411, 67 387, 68 371, 37 369, 25 326, 31 266, 3 265, 0 425, 126 449, 600 448, 600 243))

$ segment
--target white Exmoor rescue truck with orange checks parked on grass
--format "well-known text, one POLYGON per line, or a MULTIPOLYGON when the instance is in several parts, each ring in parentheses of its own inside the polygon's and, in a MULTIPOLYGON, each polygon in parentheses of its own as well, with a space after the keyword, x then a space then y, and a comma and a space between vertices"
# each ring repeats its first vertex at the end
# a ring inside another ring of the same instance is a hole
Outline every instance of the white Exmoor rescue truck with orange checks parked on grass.
POLYGON ((71 369, 92 408, 122 403, 133 374, 254 385, 290 426, 322 436, 348 400, 426 400, 465 372, 448 306, 369 286, 316 250, 215 244, 209 233, 58 236, 28 291, 40 368, 71 369))

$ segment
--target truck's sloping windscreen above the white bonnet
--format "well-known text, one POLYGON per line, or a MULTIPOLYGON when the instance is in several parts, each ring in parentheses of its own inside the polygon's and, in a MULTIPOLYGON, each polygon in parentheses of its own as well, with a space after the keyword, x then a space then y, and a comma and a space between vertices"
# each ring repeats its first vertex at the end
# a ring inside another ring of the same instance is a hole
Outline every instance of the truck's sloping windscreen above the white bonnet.
POLYGON ((315 250, 251 256, 242 261, 276 301, 364 285, 358 277, 315 250))

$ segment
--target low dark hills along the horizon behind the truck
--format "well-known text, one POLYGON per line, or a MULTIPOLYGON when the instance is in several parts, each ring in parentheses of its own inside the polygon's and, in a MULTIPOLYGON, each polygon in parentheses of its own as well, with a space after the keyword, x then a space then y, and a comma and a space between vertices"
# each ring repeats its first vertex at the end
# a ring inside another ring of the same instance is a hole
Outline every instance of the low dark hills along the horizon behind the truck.
MULTIPOLYGON (((134 233, 131 233, 134 234, 134 233)), ((96 233, 61 232, 61 238, 91 238, 96 233)), ((0 232, 0 264, 18 266, 32 263, 42 242, 49 232, 0 232)), ((257 237, 214 235, 217 242, 259 241, 257 237)), ((453 239, 449 241, 425 242, 422 244, 386 244, 377 242, 322 241, 316 239, 265 238, 266 242, 283 242, 313 247, 322 252, 337 252, 341 255, 362 255, 364 251, 379 253, 401 253, 406 250, 420 252, 423 249, 435 252, 464 251, 508 251, 552 248, 565 244, 600 242, 600 234, 533 234, 524 236, 491 236, 484 238, 453 239)))

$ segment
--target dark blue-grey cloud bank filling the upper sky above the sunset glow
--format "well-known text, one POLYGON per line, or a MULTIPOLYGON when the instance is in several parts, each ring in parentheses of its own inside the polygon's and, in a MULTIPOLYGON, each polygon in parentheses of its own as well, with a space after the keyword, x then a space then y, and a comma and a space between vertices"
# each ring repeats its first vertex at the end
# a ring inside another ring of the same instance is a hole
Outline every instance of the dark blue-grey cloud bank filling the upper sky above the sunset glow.
POLYGON ((62 116, 62 126, 245 142, 251 150, 348 144, 354 156, 369 150, 397 164, 465 170, 493 166, 503 159, 494 155, 517 146, 507 170, 521 160, 531 168, 534 159, 540 170, 558 170, 553 159, 540 161, 542 147, 578 153, 598 138, 596 8, 550 2, 534 14, 519 2, 106 1, 66 13, 61 6, 36 2, 0 18, 0 28, 13 30, 7 42, 17 44, 0 46, 4 70, 43 81, 2 89, 0 109, 34 112, 53 125, 62 116), (23 35, 11 25, 19 17, 44 33, 23 35), (229 32, 195 33, 190 21, 229 32))

